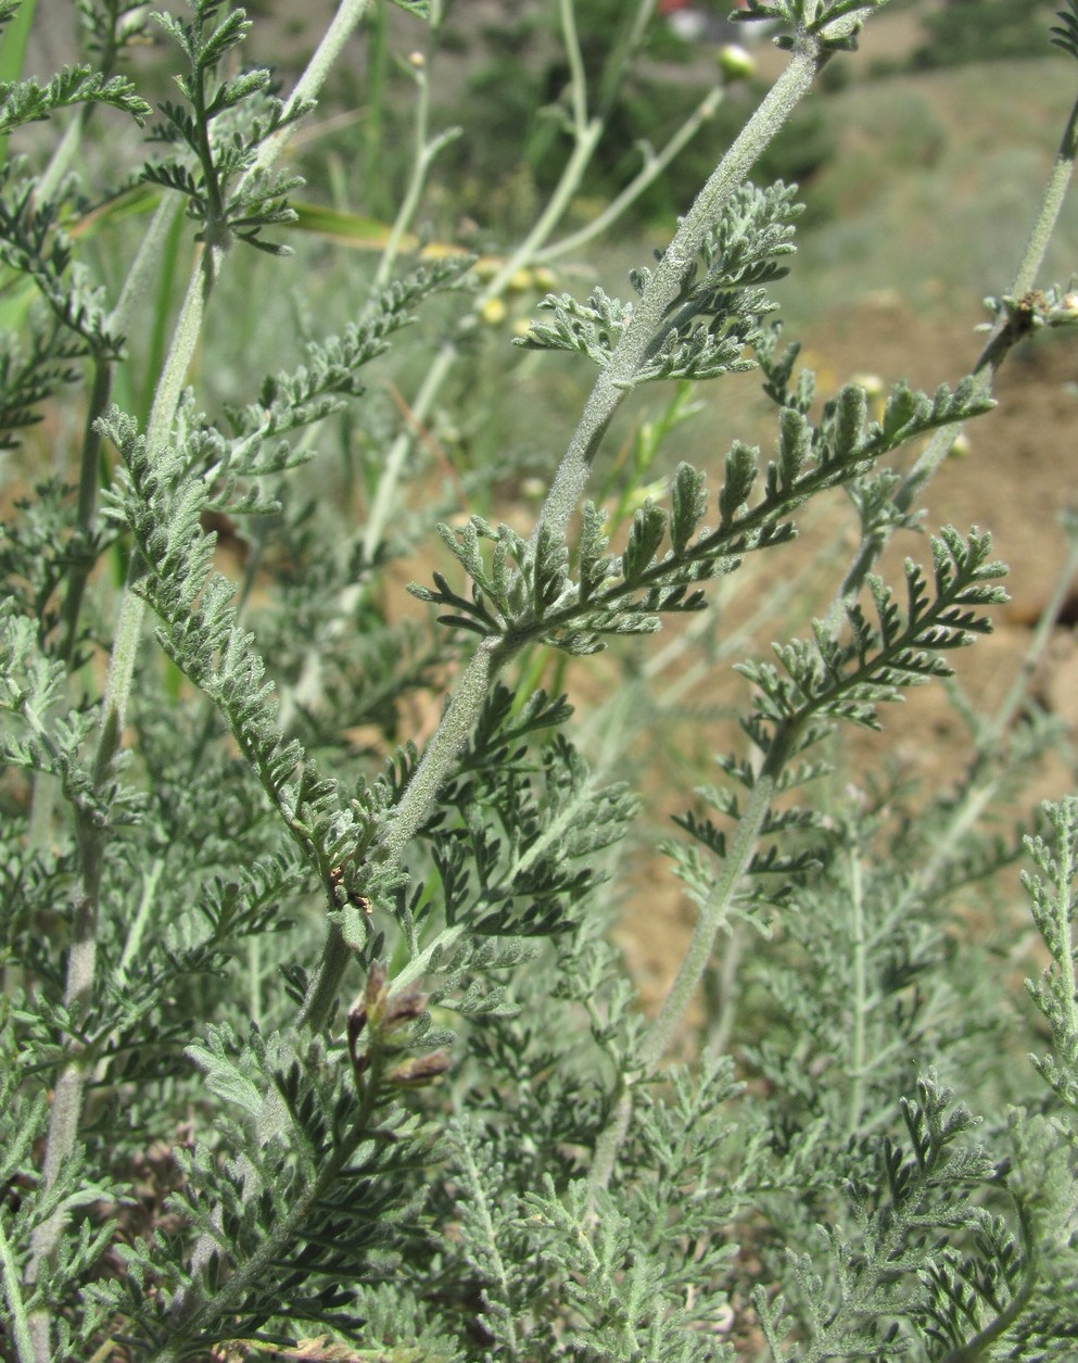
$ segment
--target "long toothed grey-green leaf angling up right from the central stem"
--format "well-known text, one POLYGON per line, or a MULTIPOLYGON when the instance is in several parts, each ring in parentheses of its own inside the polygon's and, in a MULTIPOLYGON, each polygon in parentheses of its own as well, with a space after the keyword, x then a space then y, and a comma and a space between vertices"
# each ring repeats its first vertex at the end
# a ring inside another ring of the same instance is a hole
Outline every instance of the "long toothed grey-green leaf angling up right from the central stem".
MULTIPOLYGON (((510 526, 495 529, 472 517, 458 532, 439 526, 443 542, 472 578, 470 598, 454 592, 442 574, 435 574, 433 592, 417 585, 409 590, 421 601, 448 607, 450 613, 439 616, 443 624, 484 638, 514 643, 538 638, 568 653, 594 653, 604 646, 604 635, 650 634, 664 613, 703 609, 699 583, 735 572, 745 553, 790 540, 796 533, 790 514, 810 497, 845 484, 861 488, 865 472, 882 455, 928 431, 977 416, 989 405, 973 380, 964 380, 954 391, 940 386, 931 397, 899 384, 882 421, 867 420, 867 397, 857 384, 848 384, 825 403, 819 425, 797 406, 782 405, 777 457, 766 466, 762 492, 754 500, 760 481, 759 450, 736 442, 725 459, 714 526, 705 523, 706 474, 683 463, 673 477, 671 510, 645 502, 632 517, 620 555, 608 552, 602 511, 585 506, 575 578, 568 548, 552 536, 541 533, 532 549, 510 526), (484 541, 495 545, 489 564, 484 541), (666 541, 669 548, 660 553, 666 541)), ((962 590, 973 593, 970 601, 977 596, 968 585, 962 590)), ((998 593, 977 598, 1002 600, 998 593)), ((894 634, 894 608, 886 611, 894 634)), ((912 657, 904 654, 902 665, 912 669, 912 657)))

